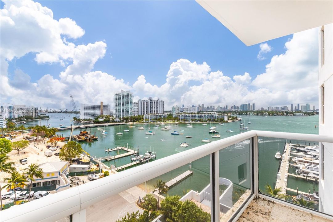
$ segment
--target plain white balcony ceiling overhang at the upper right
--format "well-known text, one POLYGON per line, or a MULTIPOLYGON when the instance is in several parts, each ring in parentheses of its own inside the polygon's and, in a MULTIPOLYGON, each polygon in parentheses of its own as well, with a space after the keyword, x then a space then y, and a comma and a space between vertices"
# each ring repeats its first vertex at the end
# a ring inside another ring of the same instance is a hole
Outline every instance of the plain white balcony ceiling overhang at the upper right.
POLYGON ((333 22, 333 1, 197 0, 250 46, 333 22))

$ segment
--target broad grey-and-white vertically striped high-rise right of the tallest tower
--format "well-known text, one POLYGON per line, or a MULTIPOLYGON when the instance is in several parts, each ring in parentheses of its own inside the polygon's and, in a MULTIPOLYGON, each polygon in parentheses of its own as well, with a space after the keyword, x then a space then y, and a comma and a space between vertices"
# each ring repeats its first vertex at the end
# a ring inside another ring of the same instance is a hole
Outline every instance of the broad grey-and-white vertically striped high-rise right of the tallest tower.
POLYGON ((163 114, 164 113, 164 101, 158 99, 149 99, 141 100, 138 102, 139 115, 146 114, 163 114))

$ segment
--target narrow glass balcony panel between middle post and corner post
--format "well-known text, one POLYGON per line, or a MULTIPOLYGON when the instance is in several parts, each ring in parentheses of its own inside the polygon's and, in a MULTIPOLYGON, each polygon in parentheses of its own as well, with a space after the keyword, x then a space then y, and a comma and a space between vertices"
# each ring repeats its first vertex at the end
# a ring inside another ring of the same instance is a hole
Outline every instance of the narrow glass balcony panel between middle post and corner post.
POLYGON ((251 195, 251 140, 219 151, 220 221, 228 221, 251 195))

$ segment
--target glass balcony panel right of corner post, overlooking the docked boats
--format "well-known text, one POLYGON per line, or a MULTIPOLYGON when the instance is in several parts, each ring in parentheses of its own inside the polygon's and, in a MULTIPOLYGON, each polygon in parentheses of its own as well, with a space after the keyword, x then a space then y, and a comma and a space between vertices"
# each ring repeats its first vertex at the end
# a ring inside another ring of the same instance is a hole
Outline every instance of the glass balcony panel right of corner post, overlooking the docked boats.
POLYGON ((258 138, 259 191, 316 211, 323 152, 319 142, 258 138))

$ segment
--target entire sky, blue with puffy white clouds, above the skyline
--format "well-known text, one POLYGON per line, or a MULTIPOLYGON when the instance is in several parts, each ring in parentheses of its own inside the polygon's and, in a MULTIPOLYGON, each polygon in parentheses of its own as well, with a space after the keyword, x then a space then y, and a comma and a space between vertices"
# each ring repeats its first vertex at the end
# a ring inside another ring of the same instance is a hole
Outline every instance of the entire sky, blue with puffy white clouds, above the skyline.
POLYGON ((317 28, 246 47, 195 1, 6 1, 1 16, 1 103, 70 110, 70 94, 114 104, 130 90, 166 110, 318 107, 317 28))

